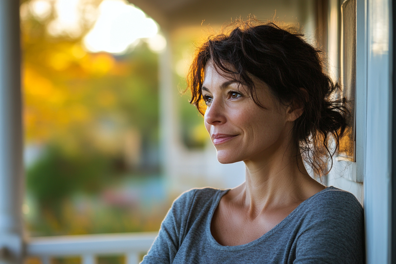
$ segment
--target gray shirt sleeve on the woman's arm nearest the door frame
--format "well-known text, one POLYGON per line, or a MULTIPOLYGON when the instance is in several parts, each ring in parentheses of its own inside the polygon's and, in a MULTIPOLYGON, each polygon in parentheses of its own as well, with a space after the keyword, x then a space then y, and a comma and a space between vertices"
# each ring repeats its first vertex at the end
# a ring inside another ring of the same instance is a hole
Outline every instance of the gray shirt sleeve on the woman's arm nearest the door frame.
POLYGON ((345 192, 316 206, 297 238, 293 264, 363 264, 364 217, 356 198, 345 192))

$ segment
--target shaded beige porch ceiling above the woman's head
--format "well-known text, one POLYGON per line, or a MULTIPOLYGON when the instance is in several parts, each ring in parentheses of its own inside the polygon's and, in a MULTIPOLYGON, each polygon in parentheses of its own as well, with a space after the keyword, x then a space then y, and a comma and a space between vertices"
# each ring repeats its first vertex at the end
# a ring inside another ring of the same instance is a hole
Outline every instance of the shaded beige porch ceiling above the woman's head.
POLYGON ((306 21, 313 0, 129 0, 165 30, 190 25, 219 25, 231 18, 255 15, 286 23, 306 21))

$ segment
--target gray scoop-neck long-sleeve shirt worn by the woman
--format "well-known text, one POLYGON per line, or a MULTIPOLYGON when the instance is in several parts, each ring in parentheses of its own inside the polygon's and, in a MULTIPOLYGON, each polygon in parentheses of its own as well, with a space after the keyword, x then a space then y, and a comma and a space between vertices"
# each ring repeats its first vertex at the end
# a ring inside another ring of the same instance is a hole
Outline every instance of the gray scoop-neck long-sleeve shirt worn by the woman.
POLYGON ((222 246, 210 223, 228 190, 192 189, 177 198, 142 264, 363 264, 363 208, 335 187, 303 201, 259 239, 222 246))

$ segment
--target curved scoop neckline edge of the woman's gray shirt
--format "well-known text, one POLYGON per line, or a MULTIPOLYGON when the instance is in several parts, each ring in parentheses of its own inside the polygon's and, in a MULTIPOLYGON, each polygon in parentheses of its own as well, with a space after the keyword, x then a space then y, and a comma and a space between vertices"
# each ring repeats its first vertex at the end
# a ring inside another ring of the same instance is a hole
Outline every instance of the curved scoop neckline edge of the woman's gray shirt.
POLYGON ((285 226, 293 218, 293 216, 296 213, 298 213, 298 211, 301 209, 303 204, 305 204, 307 201, 309 201, 310 199, 314 198, 318 194, 320 194, 320 193, 322 193, 322 192, 324 192, 326 190, 330 190, 330 189, 337 189, 337 188, 335 188, 333 186, 327 186, 326 188, 324 188, 320 192, 317 192, 316 194, 312 195, 308 199, 306 199, 303 202, 301 202, 289 215, 287 215, 287 217, 285 217, 282 221, 280 221, 276 226, 274 226, 271 230, 269 230, 263 236, 255 239, 255 240, 253 240, 253 241, 251 241, 249 243, 242 244, 242 245, 236 245, 236 246, 223 246, 223 245, 220 245, 219 242, 217 242, 216 239, 212 236, 212 233, 210 231, 210 225, 211 225, 211 222, 212 222, 213 214, 214 214, 215 210, 217 209, 217 207, 219 206, 221 198, 225 194, 227 194, 227 192, 229 190, 231 190, 231 189, 219 190, 219 192, 217 192, 217 195, 216 195, 216 198, 215 198, 215 202, 213 203, 213 205, 212 205, 212 207, 211 207, 211 209, 209 211, 208 221, 206 222, 206 235, 208 237, 209 243, 215 249, 219 249, 219 250, 223 250, 223 251, 238 251, 238 250, 247 249, 249 247, 253 247, 254 245, 257 245, 257 244, 261 243, 262 241, 265 241, 268 237, 272 236, 272 234, 276 233, 280 228, 285 226))

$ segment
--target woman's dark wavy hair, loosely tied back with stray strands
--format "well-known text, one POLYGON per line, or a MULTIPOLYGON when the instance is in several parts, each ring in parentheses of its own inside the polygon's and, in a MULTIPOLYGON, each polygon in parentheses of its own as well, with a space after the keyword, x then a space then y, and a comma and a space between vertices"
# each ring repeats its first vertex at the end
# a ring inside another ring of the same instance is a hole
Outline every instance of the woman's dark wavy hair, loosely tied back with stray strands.
POLYGON ((327 174, 346 129, 347 110, 345 99, 331 99, 339 85, 327 75, 322 51, 293 27, 249 19, 227 28, 228 32, 210 36, 196 50, 187 76, 190 103, 204 114, 202 82, 209 61, 218 72, 244 85, 253 101, 263 107, 252 79, 258 78, 279 103, 290 105, 296 100, 303 104, 304 112, 294 121, 292 131, 300 149, 297 157, 302 155, 317 175, 327 174))

